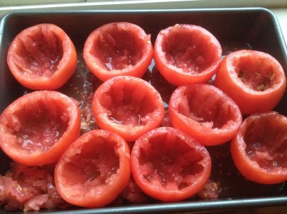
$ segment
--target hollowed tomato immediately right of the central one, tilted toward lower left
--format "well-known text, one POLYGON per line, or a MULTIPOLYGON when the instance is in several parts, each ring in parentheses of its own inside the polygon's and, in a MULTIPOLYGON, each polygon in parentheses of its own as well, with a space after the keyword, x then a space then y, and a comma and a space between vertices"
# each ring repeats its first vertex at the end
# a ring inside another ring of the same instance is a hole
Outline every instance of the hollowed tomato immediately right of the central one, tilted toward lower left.
POLYGON ((231 140, 242 123, 236 103, 209 84, 179 86, 170 98, 169 115, 174 128, 206 146, 231 140))

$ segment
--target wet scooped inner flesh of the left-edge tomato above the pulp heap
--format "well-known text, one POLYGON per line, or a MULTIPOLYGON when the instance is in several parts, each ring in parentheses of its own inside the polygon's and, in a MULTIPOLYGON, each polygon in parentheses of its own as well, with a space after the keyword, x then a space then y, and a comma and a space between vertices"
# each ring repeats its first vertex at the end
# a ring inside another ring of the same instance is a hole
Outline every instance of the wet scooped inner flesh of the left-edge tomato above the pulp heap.
POLYGON ((18 142, 20 142, 19 147, 27 149, 27 152, 37 150, 45 152, 58 142, 68 128, 69 118, 63 113, 63 109, 47 111, 50 108, 55 108, 53 101, 44 108, 27 109, 27 111, 14 114, 13 122, 19 123, 20 126, 18 127, 20 128, 19 131, 14 133, 16 138, 18 138, 18 142), (31 110, 32 112, 30 112, 31 110), (34 114, 34 112, 39 112, 39 114, 34 114))

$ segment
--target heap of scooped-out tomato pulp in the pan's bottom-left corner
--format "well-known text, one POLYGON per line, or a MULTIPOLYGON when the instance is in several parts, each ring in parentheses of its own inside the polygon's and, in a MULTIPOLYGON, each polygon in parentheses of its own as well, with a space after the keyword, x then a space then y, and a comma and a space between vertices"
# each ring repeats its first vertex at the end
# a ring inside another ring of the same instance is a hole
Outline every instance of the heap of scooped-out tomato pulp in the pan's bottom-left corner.
POLYGON ((68 207, 60 198, 53 181, 53 166, 23 166, 11 163, 5 175, 0 175, 0 201, 5 210, 39 210, 68 207))

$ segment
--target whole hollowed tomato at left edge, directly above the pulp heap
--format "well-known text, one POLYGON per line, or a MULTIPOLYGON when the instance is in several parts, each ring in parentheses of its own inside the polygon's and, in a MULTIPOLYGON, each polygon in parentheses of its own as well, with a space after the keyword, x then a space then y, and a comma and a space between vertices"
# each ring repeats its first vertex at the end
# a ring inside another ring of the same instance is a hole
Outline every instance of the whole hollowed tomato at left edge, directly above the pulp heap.
POLYGON ((56 91, 35 91, 9 105, 0 116, 0 146, 14 161, 42 166, 58 161, 79 137, 75 102, 56 91))

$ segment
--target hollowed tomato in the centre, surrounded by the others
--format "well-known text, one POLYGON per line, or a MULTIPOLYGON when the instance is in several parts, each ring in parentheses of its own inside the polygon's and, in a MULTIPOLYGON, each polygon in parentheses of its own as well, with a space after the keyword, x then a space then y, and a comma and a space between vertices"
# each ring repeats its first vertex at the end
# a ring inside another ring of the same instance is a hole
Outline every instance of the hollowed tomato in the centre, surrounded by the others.
POLYGON ((160 126, 164 107, 160 93, 133 76, 115 76, 97 88, 91 102, 96 123, 132 142, 160 126))

